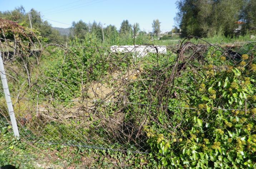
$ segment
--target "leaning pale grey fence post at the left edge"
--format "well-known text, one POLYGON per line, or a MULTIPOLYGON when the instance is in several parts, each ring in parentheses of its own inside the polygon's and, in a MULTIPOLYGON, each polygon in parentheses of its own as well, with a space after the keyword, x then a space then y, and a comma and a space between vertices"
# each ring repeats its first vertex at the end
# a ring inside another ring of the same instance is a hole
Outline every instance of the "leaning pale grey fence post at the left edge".
POLYGON ((9 91, 9 87, 8 87, 8 83, 7 83, 7 78, 5 75, 4 63, 3 63, 2 56, 1 56, 1 52, 0 52, 0 75, 1 75, 1 80, 3 83, 6 103, 7 103, 8 110, 9 110, 9 116, 11 118, 11 125, 13 126, 14 136, 20 137, 14 110, 13 110, 13 103, 11 102, 11 96, 10 96, 10 91, 9 91))

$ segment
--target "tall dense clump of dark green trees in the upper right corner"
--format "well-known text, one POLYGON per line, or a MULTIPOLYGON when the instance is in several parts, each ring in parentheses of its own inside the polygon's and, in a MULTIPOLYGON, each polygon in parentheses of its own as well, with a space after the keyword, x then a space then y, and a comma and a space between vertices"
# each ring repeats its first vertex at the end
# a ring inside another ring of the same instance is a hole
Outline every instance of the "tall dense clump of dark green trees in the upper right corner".
POLYGON ((255 0, 178 0, 181 36, 245 35, 256 30, 255 0))

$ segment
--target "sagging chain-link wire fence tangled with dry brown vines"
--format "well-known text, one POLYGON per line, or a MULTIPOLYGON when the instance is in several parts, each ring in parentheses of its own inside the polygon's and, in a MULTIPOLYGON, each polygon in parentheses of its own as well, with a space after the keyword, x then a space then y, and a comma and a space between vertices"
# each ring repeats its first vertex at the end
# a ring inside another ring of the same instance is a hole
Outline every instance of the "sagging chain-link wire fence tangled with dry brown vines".
MULTIPOLYGON (((148 153, 150 134, 189 139, 193 117, 202 119, 197 132, 206 138, 218 113, 228 120, 250 114, 244 125, 255 124, 255 99, 242 92, 239 101, 232 93, 220 97, 205 82, 223 86, 222 74, 238 73, 255 93, 255 79, 244 79, 246 70, 255 73, 256 42, 65 47, 20 41, 0 43, 19 132, 28 142, 148 153)), ((10 118, 2 88, 0 99, 4 127, 10 118)))

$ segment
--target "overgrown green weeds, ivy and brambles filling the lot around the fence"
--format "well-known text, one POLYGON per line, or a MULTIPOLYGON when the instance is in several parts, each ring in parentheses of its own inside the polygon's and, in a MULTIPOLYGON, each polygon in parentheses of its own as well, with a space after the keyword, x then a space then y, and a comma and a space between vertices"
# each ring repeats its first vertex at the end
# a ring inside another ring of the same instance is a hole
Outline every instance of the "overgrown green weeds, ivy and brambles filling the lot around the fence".
POLYGON ((8 132, 0 90, 0 165, 44 168, 33 163, 43 159, 59 168, 256 168, 255 42, 190 39, 139 57, 104 47, 149 42, 125 20, 121 32, 104 29, 105 42, 97 22, 74 22, 69 47, 49 45, 40 26, 1 20, 0 37, 16 52, 5 67, 23 140, 8 132), (40 55, 31 56, 38 42, 40 55), (45 160, 38 148, 56 159, 45 160))

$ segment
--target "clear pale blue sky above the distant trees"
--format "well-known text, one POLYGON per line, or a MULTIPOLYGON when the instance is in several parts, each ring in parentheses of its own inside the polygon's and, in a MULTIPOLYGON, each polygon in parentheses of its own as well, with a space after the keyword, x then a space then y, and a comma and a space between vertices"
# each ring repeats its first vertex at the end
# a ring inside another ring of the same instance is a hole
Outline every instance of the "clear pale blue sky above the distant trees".
MULTIPOLYGON (((23 5, 41 12, 44 18, 71 24, 72 21, 114 24, 118 29, 124 19, 138 22, 145 31, 152 30, 152 21, 159 19, 161 31, 170 31, 177 12, 176 0, 0 0, 0 11, 23 5)), ((56 27, 70 27, 48 20, 56 27)))

